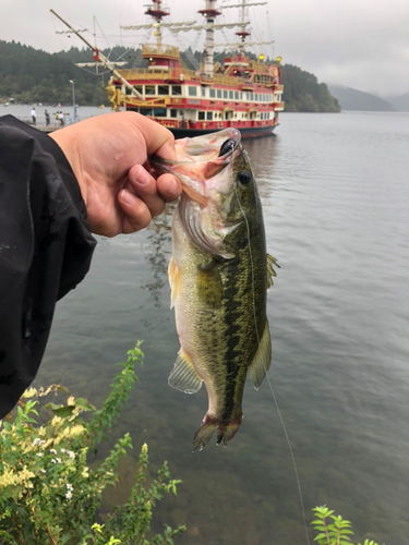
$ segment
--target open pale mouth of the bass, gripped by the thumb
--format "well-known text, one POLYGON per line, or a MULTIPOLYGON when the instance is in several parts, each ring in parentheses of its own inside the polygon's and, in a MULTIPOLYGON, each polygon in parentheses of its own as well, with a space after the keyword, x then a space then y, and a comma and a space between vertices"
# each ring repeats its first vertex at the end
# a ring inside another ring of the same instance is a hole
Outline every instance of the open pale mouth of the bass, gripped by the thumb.
POLYGON ((153 155, 149 164, 159 173, 176 175, 190 198, 206 205, 207 190, 216 187, 215 183, 208 181, 218 178, 232 162, 239 153, 240 142, 240 131, 232 128, 194 138, 181 138, 175 142, 178 160, 161 159, 153 155))

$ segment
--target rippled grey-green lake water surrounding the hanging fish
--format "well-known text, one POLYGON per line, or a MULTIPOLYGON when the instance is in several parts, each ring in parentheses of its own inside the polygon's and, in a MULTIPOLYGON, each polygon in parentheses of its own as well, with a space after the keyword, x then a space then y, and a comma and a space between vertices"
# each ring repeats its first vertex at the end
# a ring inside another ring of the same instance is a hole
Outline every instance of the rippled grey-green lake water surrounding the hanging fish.
MULTIPOLYGON (((269 376, 311 508, 353 522, 354 542, 409 543, 409 116, 281 116, 274 137, 245 142, 281 269, 268 296, 269 376)), ((171 210, 170 210, 171 211, 171 210)), ((135 450, 106 500, 124 499, 143 443, 152 471, 181 479, 154 528, 206 545, 306 543, 297 479, 268 385, 244 393, 225 449, 191 452, 205 388, 167 385, 179 349, 169 311, 170 215, 144 232, 100 239, 87 279, 58 305, 36 384, 59 382, 100 403, 136 339, 145 365, 113 431, 135 450), (132 456, 134 458, 132 458, 132 456)), ((103 448, 106 451, 106 447, 103 448)))

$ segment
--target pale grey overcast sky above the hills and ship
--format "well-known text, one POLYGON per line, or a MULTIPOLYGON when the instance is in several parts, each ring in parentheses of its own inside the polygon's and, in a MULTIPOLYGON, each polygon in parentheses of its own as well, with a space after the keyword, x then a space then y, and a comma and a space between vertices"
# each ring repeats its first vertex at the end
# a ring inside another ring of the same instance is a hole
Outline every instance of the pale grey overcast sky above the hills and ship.
MULTIPOLYGON (((218 0, 217 7, 241 0, 218 0)), ((248 0, 260 2, 262 0, 248 0)), ((85 27, 92 39, 93 15, 97 17, 97 45, 128 47, 153 43, 146 31, 121 31, 121 25, 149 21, 144 11, 148 0, 0 0, 0 39, 21 41, 49 52, 81 47, 76 37, 57 35, 63 25, 50 14, 52 8, 74 27, 85 27)), ((168 0, 167 21, 194 21, 204 0, 168 0)), ((239 10, 224 10, 217 19, 232 22, 239 10)), ((409 92, 409 0, 268 0, 267 5, 248 8, 252 39, 274 39, 273 46, 253 47, 256 53, 281 56, 315 74, 320 82, 354 87, 381 96, 409 92)), ((216 41, 233 38, 231 31, 219 31, 216 41)), ((182 49, 201 49, 204 40, 196 33, 175 38, 164 34, 164 43, 182 49)))

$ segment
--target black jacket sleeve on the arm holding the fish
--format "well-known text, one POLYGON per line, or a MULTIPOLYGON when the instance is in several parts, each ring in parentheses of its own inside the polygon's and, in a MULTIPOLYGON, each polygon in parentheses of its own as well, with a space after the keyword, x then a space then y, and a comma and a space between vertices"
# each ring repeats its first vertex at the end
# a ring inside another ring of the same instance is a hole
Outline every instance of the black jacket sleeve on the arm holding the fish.
POLYGON ((95 244, 60 147, 0 118, 0 419, 35 378, 56 302, 84 278, 95 244))

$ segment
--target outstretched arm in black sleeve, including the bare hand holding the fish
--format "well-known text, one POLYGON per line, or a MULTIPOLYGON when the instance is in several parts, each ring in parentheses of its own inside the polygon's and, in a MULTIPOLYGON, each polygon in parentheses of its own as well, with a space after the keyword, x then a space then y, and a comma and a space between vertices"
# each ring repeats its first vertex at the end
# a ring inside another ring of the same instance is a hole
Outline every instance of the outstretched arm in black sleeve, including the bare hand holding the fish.
POLYGON ((56 303, 87 274, 96 240, 144 229, 181 194, 149 155, 176 160, 172 134, 134 112, 50 134, 0 118, 0 419, 34 380, 56 303))

